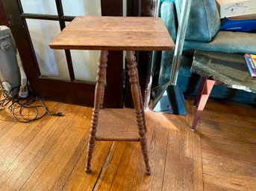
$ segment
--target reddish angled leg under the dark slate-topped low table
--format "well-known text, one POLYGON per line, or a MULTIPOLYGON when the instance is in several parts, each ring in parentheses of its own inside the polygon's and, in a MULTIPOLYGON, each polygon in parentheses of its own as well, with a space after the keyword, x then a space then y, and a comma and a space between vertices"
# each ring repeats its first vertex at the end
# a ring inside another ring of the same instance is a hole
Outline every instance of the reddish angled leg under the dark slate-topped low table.
POLYGON ((214 84, 215 84, 214 80, 209 80, 207 78, 202 79, 202 82, 200 84, 201 91, 199 90, 198 95, 196 97, 196 99, 199 99, 199 100, 196 101, 196 105, 198 105, 198 108, 196 110, 196 116, 193 120, 193 125, 192 125, 193 130, 196 129, 196 125, 199 122, 202 111, 205 109, 205 105, 210 96, 210 91, 213 89, 214 84))

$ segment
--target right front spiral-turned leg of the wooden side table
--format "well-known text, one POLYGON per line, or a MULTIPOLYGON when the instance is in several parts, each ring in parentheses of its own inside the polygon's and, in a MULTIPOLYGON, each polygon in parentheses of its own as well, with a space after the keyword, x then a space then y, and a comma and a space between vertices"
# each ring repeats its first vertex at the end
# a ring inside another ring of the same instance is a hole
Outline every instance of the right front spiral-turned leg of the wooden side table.
POLYGON ((137 125, 140 135, 140 144, 141 144, 141 150, 143 152, 143 159, 146 165, 146 173, 150 175, 151 169, 149 166, 149 152, 148 147, 146 143, 146 132, 143 122, 143 110, 141 109, 140 105, 140 91, 139 91, 139 85, 137 84, 137 68, 136 68, 136 58, 134 56, 133 51, 126 51, 126 61, 128 62, 128 69, 129 69, 129 77, 131 82, 131 94, 132 98, 134 100, 134 108, 136 110, 136 117, 137 117, 137 125))

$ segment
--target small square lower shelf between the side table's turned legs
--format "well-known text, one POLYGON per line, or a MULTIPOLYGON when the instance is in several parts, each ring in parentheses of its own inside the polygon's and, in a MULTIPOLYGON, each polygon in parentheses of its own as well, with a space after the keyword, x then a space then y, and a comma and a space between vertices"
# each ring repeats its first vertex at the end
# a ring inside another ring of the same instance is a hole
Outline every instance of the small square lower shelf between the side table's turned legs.
POLYGON ((96 140, 139 141, 134 109, 101 109, 96 140))

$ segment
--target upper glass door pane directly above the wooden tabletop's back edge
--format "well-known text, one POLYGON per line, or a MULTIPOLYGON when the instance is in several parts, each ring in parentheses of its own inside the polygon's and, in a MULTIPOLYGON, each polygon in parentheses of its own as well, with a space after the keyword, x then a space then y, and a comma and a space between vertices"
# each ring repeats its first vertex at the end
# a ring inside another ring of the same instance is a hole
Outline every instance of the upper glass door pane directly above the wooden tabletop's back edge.
POLYGON ((64 16, 102 16, 100 0, 63 0, 64 16))

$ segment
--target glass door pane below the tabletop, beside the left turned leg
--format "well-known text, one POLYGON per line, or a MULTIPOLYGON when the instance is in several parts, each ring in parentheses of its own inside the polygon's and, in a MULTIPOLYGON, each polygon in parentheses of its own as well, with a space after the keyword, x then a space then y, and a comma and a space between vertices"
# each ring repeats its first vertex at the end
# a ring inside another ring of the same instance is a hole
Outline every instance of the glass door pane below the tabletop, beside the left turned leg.
POLYGON ((75 80, 96 82, 99 51, 71 50, 75 80))

